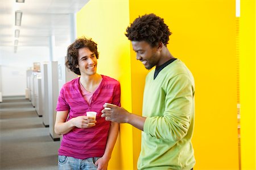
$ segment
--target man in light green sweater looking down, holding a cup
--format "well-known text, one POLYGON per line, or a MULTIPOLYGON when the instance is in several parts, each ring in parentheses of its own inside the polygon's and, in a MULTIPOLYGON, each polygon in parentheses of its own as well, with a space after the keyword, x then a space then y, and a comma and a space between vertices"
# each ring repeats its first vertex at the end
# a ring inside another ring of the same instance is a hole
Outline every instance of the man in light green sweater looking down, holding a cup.
POLYGON ((139 16, 127 28, 137 60, 146 69, 142 117, 122 107, 105 104, 106 121, 130 123, 142 130, 138 169, 193 169, 191 138, 194 127, 195 82, 189 69, 171 55, 171 32, 155 14, 139 16))

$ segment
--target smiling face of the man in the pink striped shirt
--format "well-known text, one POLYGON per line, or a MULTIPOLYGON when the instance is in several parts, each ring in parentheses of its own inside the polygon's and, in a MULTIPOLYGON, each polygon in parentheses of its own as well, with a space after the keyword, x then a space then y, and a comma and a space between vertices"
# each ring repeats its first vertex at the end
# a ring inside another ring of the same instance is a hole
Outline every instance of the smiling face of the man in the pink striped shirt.
POLYGON ((78 52, 79 65, 77 65, 77 68, 79 68, 81 76, 92 76, 93 74, 96 74, 97 58, 95 53, 86 47, 80 48, 78 52))

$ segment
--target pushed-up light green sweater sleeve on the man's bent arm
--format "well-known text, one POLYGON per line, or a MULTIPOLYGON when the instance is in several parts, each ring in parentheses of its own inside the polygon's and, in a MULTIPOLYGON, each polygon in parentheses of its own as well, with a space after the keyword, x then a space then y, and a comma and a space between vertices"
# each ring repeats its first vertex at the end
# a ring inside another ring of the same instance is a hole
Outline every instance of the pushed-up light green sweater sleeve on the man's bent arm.
POLYGON ((156 138, 179 141, 188 131, 194 88, 187 74, 172 77, 167 84, 163 116, 147 117, 144 132, 156 138))

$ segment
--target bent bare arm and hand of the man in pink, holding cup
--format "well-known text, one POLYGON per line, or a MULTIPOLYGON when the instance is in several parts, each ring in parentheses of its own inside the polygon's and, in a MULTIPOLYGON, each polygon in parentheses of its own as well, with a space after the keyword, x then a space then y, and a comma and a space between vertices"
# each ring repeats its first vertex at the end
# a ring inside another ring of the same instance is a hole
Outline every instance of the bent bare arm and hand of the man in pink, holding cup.
POLYGON ((57 111, 56 121, 54 126, 54 131, 56 134, 58 135, 67 134, 74 127, 89 128, 89 127, 95 126, 96 121, 93 120, 94 118, 86 117, 86 116, 72 118, 66 122, 68 118, 68 113, 69 113, 68 110, 57 111), (94 124, 88 124, 88 123, 94 123, 94 124))

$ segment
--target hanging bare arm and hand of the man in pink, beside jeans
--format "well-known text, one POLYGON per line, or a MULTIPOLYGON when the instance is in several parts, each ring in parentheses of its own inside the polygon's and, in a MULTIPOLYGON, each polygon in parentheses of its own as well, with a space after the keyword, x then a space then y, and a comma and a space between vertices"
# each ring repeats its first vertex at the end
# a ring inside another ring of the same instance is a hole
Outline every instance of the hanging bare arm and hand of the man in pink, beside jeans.
POLYGON ((98 165, 97 170, 108 168, 108 163, 111 158, 115 141, 117 140, 118 130, 119 130, 119 123, 111 122, 104 155, 100 159, 98 159, 95 163, 96 165, 98 165))

